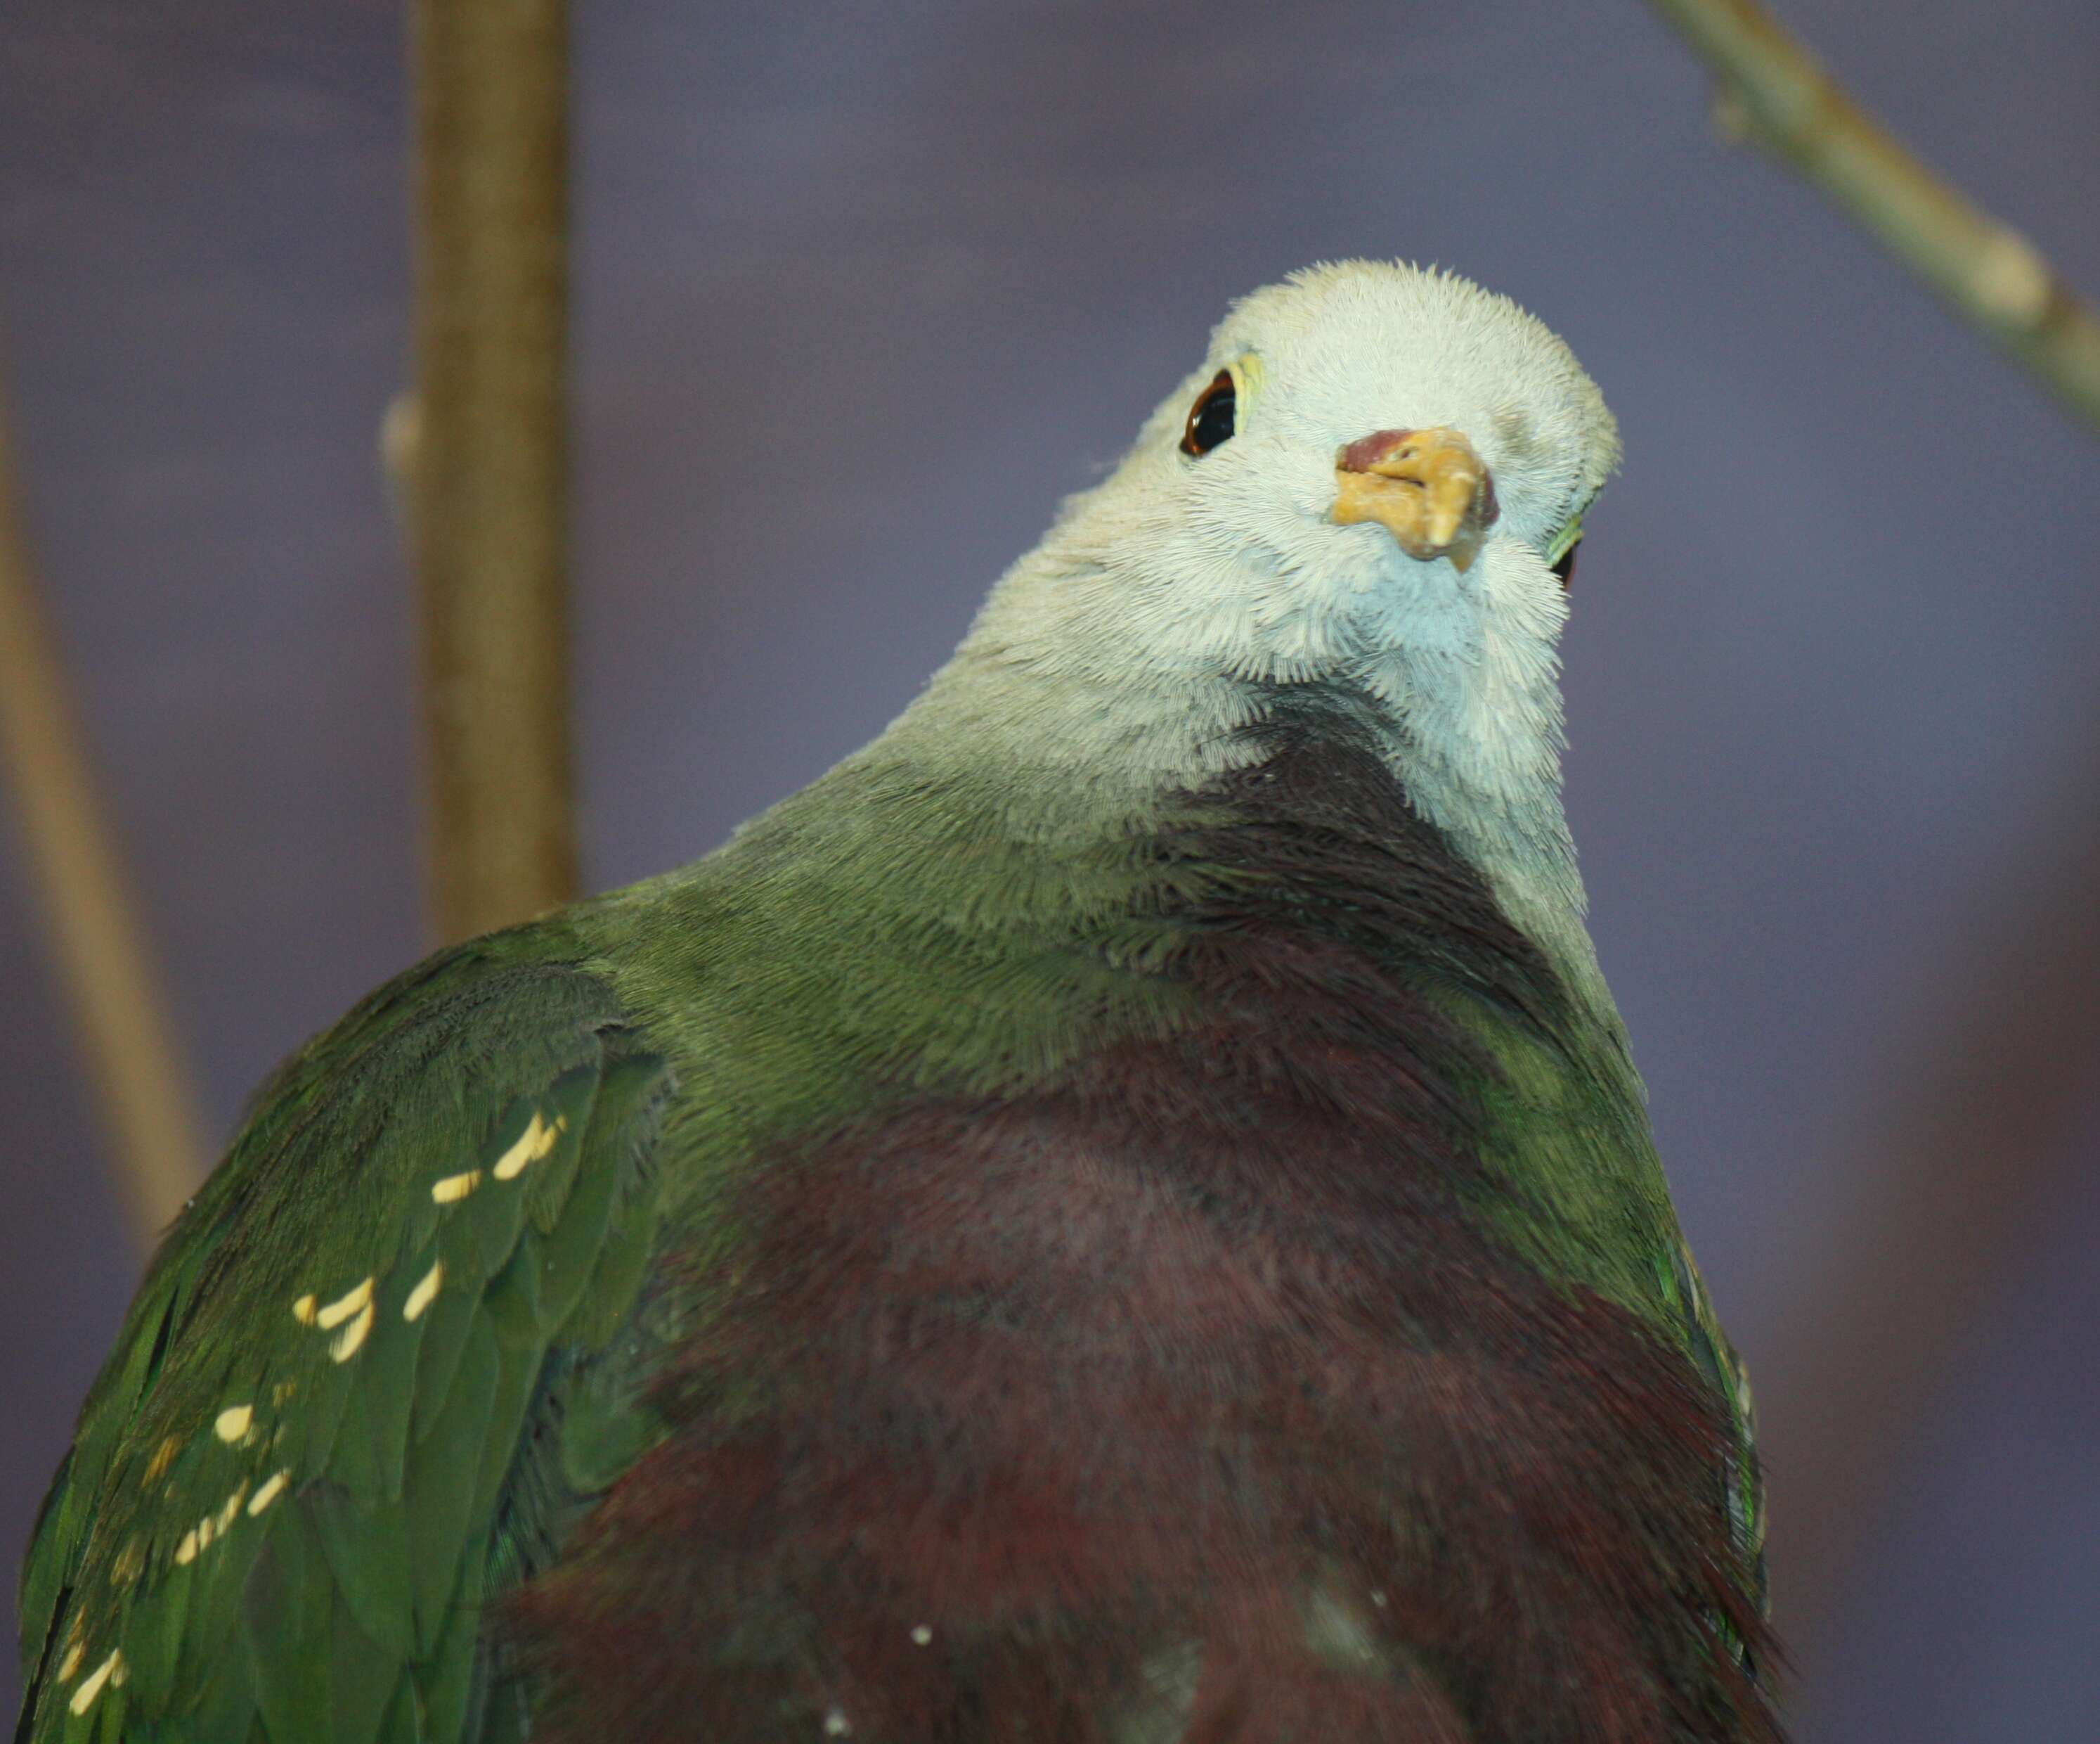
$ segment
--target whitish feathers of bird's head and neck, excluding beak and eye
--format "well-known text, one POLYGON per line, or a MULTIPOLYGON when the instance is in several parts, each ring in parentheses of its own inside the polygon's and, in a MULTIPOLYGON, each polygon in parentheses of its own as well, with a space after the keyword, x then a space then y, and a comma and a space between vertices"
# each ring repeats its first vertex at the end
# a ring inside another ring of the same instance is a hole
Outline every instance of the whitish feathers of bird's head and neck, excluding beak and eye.
POLYGON ((1548 553, 1617 458, 1596 387, 1508 298, 1407 265, 1310 267, 1233 307, 1115 473, 1000 580, 899 731, 989 735, 1142 805, 1250 756, 1235 729, 1277 685, 1344 689, 1415 809, 1590 981, 1560 811, 1567 595, 1548 553), (1189 456, 1189 406, 1224 368, 1252 387, 1237 429, 1189 456), (1472 439, 1499 500, 1464 574, 1331 519, 1342 445, 1436 424, 1472 439))

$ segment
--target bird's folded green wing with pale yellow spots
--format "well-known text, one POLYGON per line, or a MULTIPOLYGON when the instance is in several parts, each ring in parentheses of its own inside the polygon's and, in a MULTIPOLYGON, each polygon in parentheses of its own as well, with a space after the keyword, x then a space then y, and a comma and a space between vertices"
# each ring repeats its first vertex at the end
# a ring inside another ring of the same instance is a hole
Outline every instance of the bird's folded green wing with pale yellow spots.
POLYGON ((670 1084, 533 937, 313 1042, 176 1223, 38 1519, 17 1744, 506 1736, 481 1601, 643 1433, 670 1084))

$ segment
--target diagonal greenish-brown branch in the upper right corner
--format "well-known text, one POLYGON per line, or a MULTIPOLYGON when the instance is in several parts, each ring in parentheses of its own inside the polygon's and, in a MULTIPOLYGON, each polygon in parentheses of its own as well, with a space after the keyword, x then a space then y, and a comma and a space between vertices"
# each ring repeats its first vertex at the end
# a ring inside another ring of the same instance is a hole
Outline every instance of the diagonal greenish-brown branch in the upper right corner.
POLYGON ((1718 118, 1829 193, 2100 433, 2100 315, 2018 231, 1938 181, 1756 0, 1648 0, 1720 80, 1718 118))

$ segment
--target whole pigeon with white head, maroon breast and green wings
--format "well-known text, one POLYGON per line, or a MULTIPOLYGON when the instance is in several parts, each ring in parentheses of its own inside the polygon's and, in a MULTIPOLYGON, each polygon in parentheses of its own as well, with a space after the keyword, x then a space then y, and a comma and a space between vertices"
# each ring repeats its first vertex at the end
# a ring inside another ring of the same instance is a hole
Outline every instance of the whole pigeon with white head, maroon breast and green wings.
POLYGON ((1457 273, 1231 305, 880 738, 277 1070, 17 1738, 1777 1740, 1560 798, 1617 466, 1457 273))

